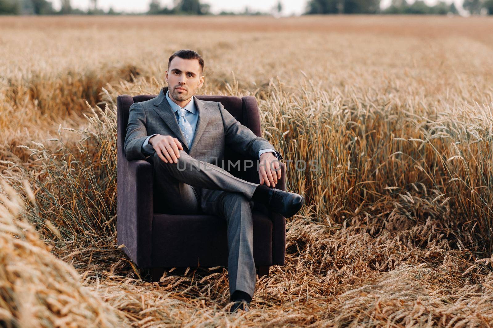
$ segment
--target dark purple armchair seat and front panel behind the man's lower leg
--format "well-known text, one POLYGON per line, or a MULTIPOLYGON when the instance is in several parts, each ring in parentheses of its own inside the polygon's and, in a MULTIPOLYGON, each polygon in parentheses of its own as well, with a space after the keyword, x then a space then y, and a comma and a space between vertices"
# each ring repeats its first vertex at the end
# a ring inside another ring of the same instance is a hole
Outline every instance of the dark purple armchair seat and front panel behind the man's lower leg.
MULTIPOLYGON (((272 220, 253 209, 253 259, 272 264, 272 220)), ((228 266, 226 220, 215 215, 154 213, 152 267, 228 266)))

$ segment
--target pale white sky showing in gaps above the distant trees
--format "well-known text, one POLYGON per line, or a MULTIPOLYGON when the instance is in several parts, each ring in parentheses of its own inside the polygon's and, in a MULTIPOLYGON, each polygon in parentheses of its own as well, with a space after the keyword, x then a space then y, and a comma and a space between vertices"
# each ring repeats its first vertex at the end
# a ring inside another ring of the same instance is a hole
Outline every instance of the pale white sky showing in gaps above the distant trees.
MULTIPOLYGON (((445 0, 447 3, 455 2, 456 6, 461 6, 463 0, 445 0)), ((72 7, 87 10, 90 5, 90 0, 71 0, 72 7)), ((113 7, 116 11, 126 12, 145 12, 149 9, 150 0, 98 0, 98 7, 103 10, 108 10, 109 7, 113 7)), ((161 5, 172 7, 173 0, 161 0, 161 5)), ((278 2, 278 0, 202 0, 202 3, 208 3, 211 5, 211 12, 214 14, 219 13, 221 10, 242 12, 245 6, 248 6, 250 11, 262 11, 269 12, 278 2)), ((289 16, 292 14, 300 15, 305 11, 305 6, 308 0, 281 0, 282 3, 282 16, 289 16)), ((381 6, 383 8, 390 4, 391 0, 381 0, 381 6)), ((408 2, 412 2, 408 1, 408 2)), ((424 0, 428 5, 435 4, 437 0, 424 0)), ((52 0, 53 7, 60 9, 61 0, 52 0)))

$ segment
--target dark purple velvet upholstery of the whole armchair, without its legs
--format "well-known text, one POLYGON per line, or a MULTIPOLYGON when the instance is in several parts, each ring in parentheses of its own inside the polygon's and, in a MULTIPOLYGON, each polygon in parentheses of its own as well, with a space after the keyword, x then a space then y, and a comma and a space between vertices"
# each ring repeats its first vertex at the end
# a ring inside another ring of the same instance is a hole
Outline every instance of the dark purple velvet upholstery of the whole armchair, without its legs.
MULTIPOLYGON (((212 215, 172 215, 153 211, 152 164, 128 161, 123 143, 130 105, 156 95, 117 97, 117 239, 124 252, 139 268, 227 267, 226 221, 212 215)), ((201 100, 220 101, 238 121, 261 136, 260 115, 255 97, 198 95, 201 100)), ((226 147, 224 163, 246 158, 226 147)), ((220 163, 218 163, 220 164, 220 163)), ((276 188, 285 190, 285 165, 276 188)), ((234 167, 231 174, 259 183, 256 165, 244 171, 234 167)), ((253 211, 253 257, 256 266, 284 265, 285 219, 255 204, 253 211)))

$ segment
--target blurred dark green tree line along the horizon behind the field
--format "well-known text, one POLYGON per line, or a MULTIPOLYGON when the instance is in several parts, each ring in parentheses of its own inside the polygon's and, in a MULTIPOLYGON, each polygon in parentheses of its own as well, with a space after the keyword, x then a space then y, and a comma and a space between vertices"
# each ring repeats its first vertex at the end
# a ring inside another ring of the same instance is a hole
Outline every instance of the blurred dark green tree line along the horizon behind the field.
MULTIPOLYGON (((211 15, 210 5, 200 0, 174 0, 174 5, 162 7, 159 0, 151 0, 150 15, 211 15)), ((464 0, 462 9, 473 15, 493 15, 493 0, 464 0)), ((240 13, 222 11, 220 15, 269 15, 280 14, 282 1, 272 8, 271 12, 251 11, 248 7, 240 13)), ((72 7, 70 0, 62 0, 60 10, 55 10, 49 0, 0 0, 0 15, 118 15, 125 12, 117 12, 109 8, 106 12, 98 8, 98 0, 91 0, 90 7, 84 11, 72 7)), ((423 0, 408 2, 407 0, 392 0, 390 6, 380 8, 380 0, 308 0, 305 14, 458 14, 458 8, 454 3, 447 4, 440 0, 435 5, 427 5, 423 0)))

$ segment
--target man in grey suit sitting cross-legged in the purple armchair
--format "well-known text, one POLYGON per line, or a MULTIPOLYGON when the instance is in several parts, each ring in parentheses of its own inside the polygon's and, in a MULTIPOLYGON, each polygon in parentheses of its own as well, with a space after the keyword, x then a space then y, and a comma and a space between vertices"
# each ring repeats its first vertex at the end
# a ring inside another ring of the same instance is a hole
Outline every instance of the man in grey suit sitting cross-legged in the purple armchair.
POLYGON ((282 156, 273 145, 238 122, 220 102, 194 96, 204 84, 203 70, 204 60, 195 51, 179 50, 170 57, 168 87, 130 106, 125 155, 153 164, 155 191, 166 195, 156 202, 162 209, 214 214, 227 221, 231 311, 248 310, 256 281, 252 202, 291 217, 304 198, 274 188, 281 179, 282 156), (225 145, 260 159, 260 184, 212 164, 223 159, 225 145))

